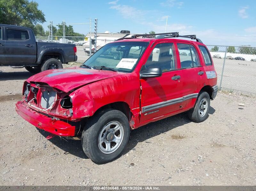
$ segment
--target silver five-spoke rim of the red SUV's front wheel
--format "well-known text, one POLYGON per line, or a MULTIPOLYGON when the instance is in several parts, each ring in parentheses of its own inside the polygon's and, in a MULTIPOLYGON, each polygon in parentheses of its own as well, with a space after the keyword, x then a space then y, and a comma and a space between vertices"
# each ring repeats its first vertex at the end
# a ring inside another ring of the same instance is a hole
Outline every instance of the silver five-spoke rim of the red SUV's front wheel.
POLYGON ((119 121, 111 121, 100 131, 98 146, 101 152, 111 154, 121 145, 124 138, 124 128, 119 121))

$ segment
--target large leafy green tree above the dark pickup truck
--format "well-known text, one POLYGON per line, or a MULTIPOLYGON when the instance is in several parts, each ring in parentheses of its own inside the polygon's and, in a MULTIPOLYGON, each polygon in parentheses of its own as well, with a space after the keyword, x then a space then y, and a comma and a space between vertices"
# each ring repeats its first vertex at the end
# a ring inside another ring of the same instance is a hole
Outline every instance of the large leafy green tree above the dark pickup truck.
POLYGON ((38 3, 28 0, 0 0, 0 23, 33 28, 45 22, 44 13, 38 3))

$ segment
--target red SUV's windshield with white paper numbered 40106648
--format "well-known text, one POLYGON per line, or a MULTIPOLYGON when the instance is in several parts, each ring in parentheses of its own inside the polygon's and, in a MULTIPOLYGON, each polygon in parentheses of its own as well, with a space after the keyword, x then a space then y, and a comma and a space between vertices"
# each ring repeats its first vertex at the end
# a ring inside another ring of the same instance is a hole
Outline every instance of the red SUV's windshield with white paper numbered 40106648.
POLYGON ((148 42, 109 43, 96 51, 83 65, 131 72, 147 46, 148 42))

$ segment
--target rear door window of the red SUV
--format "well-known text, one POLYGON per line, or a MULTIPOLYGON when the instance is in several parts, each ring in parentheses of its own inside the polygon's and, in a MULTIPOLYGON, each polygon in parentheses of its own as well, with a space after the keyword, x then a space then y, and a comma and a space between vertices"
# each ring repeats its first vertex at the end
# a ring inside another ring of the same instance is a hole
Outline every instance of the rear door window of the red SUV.
POLYGON ((189 44, 177 43, 181 68, 193 68, 200 66, 196 48, 189 44))

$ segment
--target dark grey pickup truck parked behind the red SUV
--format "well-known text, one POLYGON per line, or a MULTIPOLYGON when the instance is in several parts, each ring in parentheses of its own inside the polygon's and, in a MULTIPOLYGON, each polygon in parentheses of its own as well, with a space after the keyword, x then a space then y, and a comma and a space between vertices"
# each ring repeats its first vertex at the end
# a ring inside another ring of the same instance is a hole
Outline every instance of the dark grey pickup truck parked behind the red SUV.
POLYGON ((75 44, 36 42, 30 28, 0 24, 0 66, 37 73, 76 60, 75 44))

